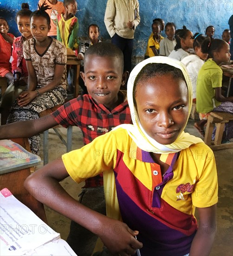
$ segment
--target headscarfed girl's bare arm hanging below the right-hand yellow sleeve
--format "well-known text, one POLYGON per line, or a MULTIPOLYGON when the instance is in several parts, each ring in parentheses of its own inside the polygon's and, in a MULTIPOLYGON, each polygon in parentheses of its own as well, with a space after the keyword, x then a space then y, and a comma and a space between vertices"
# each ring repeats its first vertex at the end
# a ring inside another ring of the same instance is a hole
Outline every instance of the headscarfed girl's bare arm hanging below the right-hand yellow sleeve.
POLYGON ((208 256, 216 233, 216 204, 206 208, 196 208, 199 225, 191 245, 189 256, 208 256))

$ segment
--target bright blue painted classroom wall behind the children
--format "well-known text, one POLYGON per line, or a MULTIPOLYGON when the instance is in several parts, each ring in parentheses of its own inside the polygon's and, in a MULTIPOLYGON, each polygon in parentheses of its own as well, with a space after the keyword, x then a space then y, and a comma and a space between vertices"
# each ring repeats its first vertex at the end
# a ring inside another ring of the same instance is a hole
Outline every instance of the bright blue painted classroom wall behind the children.
MULTIPOLYGON (((120 2, 120 0, 118 0, 120 2)), ((0 16, 10 25, 10 32, 19 36, 15 24, 15 14, 21 3, 28 2, 31 10, 37 8, 38 0, 0 0, 0 16)), ((91 23, 100 26, 101 36, 110 39, 104 25, 104 12, 107 0, 78 0, 79 36, 87 36, 87 27, 91 23)), ((233 14, 232 0, 139 0, 141 23, 136 27, 133 62, 143 59, 147 40, 151 33, 151 23, 155 18, 166 22, 175 22, 177 28, 185 25, 193 33, 205 33, 205 28, 213 25, 215 38, 221 38, 222 31, 228 26, 233 14)))

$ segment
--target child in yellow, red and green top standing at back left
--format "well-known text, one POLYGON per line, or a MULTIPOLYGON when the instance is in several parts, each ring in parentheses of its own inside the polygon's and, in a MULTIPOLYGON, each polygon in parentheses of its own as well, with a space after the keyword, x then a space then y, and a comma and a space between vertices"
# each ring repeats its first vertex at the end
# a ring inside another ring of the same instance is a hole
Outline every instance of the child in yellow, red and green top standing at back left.
MULTIPOLYGON (((78 54, 78 18, 76 0, 64 0, 65 13, 57 15, 57 40, 63 42, 65 47, 69 47, 78 54)), ((73 93, 74 71, 71 65, 67 66, 67 91, 73 93)))

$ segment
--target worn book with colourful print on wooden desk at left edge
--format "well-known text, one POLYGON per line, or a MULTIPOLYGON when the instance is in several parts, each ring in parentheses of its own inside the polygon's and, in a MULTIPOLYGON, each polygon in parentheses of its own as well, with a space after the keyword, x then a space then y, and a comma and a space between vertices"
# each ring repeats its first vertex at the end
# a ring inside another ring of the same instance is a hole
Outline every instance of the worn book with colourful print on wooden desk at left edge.
POLYGON ((0 174, 29 168, 41 163, 38 155, 11 140, 0 140, 0 174))

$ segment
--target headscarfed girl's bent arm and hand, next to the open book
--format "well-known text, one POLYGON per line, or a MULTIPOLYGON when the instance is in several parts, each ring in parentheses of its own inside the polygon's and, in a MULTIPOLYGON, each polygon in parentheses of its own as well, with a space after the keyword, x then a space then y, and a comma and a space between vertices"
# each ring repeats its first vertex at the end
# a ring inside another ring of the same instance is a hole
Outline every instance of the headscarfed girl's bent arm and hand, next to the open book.
POLYGON ((85 207, 66 193, 59 182, 68 176, 63 161, 56 160, 30 175, 24 185, 40 202, 97 234, 111 253, 134 255, 136 249, 142 248, 142 243, 134 237, 137 231, 129 229, 123 222, 85 207), (46 196, 40 193, 40 188, 46 190, 46 196), (117 232, 114 230, 116 227, 117 232))

